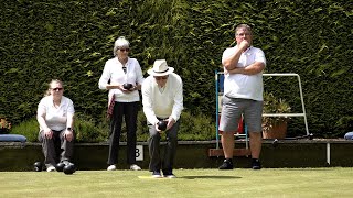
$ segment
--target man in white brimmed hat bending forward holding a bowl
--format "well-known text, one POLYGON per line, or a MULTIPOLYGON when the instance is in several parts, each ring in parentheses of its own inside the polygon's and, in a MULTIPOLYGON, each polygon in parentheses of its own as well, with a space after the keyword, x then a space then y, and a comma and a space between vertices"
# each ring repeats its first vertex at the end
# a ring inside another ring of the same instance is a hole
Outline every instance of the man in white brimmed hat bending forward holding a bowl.
POLYGON ((148 140, 152 177, 163 176, 175 178, 173 164, 178 145, 178 130, 180 114, 183 110, 183 84, 174 68, 167 65, 165 59, 157 59, 153 68, 148 70, 150 75, 142 84, 142 105, 147 118, 150 138, 148 140), (160 130, 159 122, 165 121, 167 129, 160 130), (167 135, 164 156, 160 156, 160 139, 167 135))

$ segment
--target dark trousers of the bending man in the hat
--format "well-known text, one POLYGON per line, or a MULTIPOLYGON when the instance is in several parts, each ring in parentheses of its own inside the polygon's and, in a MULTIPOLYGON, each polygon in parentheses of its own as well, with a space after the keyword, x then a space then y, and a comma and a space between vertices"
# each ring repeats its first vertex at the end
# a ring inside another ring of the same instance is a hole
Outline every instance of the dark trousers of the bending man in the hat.
POLYGON ((176 154, 176 145, 178 145, 178 130, 179 130, 180 121, 176 121, 174 125, 168 131, 160 134, 156 127, 151 123, 148 123, 150 138, 148 140, 149 154, 150 154, 150 164, 149 169, 160 170, 163 173, 171 173, 173 169, 174 158, 176 154), (160 154, 160 140, 161 135, 167 135, 167 144, 164 148, 164 154, 161 156, 160 154))

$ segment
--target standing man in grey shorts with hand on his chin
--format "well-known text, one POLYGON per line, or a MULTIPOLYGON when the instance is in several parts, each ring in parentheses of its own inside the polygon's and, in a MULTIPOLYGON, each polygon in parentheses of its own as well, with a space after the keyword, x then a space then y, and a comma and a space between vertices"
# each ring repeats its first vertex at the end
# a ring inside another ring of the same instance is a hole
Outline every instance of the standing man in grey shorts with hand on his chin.
POLYGON ((244 121, 250 136, 252 167, 260 169, 261 117, 263 117, 263 70, 266 65, 265 54, 252 46, 253 32, 247 24, 235 29, 237 45, 226 48, 222 56, 224 66, 224 96, 220 130, 223 131, 222 146, 225 160, 220 169, 233 169, 234 134, 238 121, 244 121))

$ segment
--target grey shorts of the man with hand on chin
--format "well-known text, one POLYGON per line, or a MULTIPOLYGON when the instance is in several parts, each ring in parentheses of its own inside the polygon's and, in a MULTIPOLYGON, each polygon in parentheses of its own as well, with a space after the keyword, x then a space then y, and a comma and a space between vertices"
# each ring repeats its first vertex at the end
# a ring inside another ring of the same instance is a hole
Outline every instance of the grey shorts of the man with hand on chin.
POLYGON ((244 114, 248 132, 261 132, 263 101, 224 96, 220 120, 220 131, 236 132, 238 122, 244 114))

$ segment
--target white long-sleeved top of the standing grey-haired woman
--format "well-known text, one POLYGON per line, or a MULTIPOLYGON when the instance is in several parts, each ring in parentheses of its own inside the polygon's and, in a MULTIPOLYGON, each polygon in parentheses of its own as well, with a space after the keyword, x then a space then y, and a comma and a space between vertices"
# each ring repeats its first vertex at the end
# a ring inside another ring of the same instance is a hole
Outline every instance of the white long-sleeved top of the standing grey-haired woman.
MULTIPOLYGON (((109 79, 110 84, 115 82, 122 85, 127 82, 132 84, 133 86, 137 84, 142 85, 143 75, 139 62, 136 58, 128 58, 128 62, 125 64, 125 66, 127 68, 126 74, 122 70, 122 64, 117 57, 108 59, 104 66, 103 74, 98 82, 99 89, 107 89, 109 79)), ((140 101, 138 90, 125 94, 120 89, 110 89, 108 94, 109 99, 113 95, 115 95, 115 101, 119 102, 140 101)))

